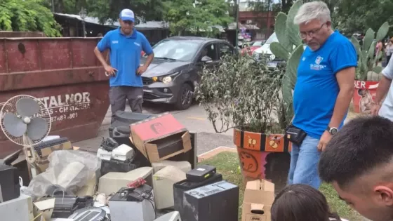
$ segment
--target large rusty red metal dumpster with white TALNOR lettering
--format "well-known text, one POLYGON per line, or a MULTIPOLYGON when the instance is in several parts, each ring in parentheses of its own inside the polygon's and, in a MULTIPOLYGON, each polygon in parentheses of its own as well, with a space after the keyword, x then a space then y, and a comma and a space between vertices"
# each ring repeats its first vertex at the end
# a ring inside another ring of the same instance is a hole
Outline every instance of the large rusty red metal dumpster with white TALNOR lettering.
MULTIPOLYGON (((95 138, 109 107, 108 77, 93 53, 99 40, 0 39, 0 102, 32 95, 51 113, 51 135, 95 138)), ((0 157, 19 148, 0 131, 0 157)))

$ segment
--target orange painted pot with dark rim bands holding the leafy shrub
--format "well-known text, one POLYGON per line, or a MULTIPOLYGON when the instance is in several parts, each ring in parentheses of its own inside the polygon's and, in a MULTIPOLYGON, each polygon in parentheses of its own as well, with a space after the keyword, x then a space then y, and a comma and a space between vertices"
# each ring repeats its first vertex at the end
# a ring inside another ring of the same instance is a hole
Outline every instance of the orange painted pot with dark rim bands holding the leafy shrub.
POLYGON ((274 183, 275 192, 286 186, 292 144, 283 134, 267 135, 234 129, 234 144, 245 183, 269 180, 274 183))

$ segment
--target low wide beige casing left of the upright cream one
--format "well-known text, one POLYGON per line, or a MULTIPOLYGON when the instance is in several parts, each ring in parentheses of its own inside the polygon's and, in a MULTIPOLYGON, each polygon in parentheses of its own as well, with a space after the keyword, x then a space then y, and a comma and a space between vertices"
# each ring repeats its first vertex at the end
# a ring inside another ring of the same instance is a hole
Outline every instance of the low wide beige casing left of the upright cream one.
POLYGON ((127 173, 109 172, 100 178, 98 192, 109 196, 118 192, 122 187, 127 187, 128 183, 138 180, 138 178, 145 179, 146 184, 152 186, 152 173, 153 168, 148 166, 137 168, 127 173))

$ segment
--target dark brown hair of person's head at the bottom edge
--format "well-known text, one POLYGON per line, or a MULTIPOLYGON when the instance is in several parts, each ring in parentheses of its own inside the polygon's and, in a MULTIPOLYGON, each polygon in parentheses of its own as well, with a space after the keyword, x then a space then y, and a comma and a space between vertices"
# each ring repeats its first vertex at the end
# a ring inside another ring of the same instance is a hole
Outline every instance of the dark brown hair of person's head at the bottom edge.
POLYGON ((309 185, 289 185, 274 199, 272 221, 340 221, 331 213, 324 194, 309 185))

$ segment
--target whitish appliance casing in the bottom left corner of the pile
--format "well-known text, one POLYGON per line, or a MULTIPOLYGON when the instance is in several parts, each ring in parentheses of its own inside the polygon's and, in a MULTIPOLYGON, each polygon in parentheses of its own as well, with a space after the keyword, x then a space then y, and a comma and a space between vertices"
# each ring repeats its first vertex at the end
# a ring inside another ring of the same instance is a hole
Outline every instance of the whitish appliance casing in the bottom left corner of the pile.
POLYGON ((16 199, 0 203, 0 220, 33 220, 33 202, 30 196, 20 194, 16 199))

